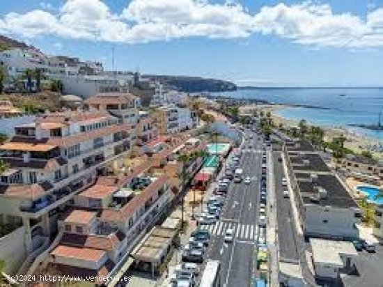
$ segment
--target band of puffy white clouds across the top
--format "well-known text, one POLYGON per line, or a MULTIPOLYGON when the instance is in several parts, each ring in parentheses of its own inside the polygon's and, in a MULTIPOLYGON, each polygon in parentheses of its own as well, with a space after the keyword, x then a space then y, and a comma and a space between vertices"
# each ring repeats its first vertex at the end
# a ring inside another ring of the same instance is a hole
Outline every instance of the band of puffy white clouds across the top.
POLYGON ((100 0, 68 0, 57 13, 40 6, 41 10, 0 18, 0 33, 125 43, 260 33, 312 47, 383 46, 383 8, 370 10, 364 19, 335 14, 328 4, 314 2, 263 6, 255 14, 233 1, 208 0, 132 0, 119 14, 100 0))

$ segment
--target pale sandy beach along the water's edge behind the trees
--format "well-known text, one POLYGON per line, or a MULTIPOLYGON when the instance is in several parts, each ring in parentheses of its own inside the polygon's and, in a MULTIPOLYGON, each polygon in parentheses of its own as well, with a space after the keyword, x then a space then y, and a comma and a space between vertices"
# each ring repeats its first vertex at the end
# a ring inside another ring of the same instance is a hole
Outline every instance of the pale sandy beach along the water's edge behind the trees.
MULTIPOLYGON (((247 107, 254 107, 254 106, 247 106, 247 107)), ((265 114, 267 111, 269 111, 272 114, 272 118, 276 126, 279 125, 279 123, 282 123, 284 126, 288 127, 297 127, 299 124, 299 121, 293 120, 290 118, 284 118, 282 116, 279 116, 276 114, 277 111, 281 109, 285 109, 288 107, 291 107, 287 104, 258 104, 257 109, 263 109, 265 111, 265 114)), ((311 123, 309 119, 306 118, 306 121, 308 125, 315 125, 315 123, 311 123)), ((379 144, 381 143, 378 139, 373 139, 370 137, 361 136, 359 134, 356 134, 350 130, 347 130, 345 128, 341 127, 326 127, 321 126, 323 130, 325 130, 325 141, 331 141, 334 137, 340 137, 341 135, 345 136, 345 147, 350 148, 350 150, 353 150, 356 153, 361 153, 362 150, 369 150, 368 146, 379 144)), ((374 157, 377 157, 379 159, 383 159, 383 153, 378 153, 375 151, 370 150, 371 153, 374 155, 374 157)))

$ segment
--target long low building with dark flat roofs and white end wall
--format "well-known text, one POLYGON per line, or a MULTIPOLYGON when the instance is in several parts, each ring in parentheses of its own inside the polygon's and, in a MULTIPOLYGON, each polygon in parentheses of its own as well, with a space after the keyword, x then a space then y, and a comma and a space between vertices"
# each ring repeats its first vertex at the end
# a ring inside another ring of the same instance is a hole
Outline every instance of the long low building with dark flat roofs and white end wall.
POLYGON ((307 141, 283 146, 290 186, 306 236, 357 238, 361 211, 347 187, 307 141))

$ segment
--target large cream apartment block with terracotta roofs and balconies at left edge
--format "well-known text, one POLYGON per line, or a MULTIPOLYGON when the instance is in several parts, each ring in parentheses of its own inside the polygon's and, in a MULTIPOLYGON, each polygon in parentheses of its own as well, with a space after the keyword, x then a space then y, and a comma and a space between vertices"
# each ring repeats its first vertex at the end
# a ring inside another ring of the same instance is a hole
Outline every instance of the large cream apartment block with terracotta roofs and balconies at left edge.
POLYGON ((134 130, 107 111, 46 114, 15 127, 0 146, 9 169, 0 177, 1 222, 23 226, 19 247, 36 256, 56 233, 56 220, 75 194, 93 185, 103 166, 131 149, 134 130))

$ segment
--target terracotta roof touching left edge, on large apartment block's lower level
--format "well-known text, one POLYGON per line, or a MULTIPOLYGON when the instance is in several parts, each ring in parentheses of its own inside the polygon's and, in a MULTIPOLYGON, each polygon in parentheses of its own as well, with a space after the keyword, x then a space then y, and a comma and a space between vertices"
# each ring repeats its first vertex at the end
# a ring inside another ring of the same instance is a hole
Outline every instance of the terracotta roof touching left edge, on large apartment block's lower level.
POLYGON ((0 194, 21 199, 38 199, 52 189, 51 183, 34 183, 33 185, 0 185, 0 194))

